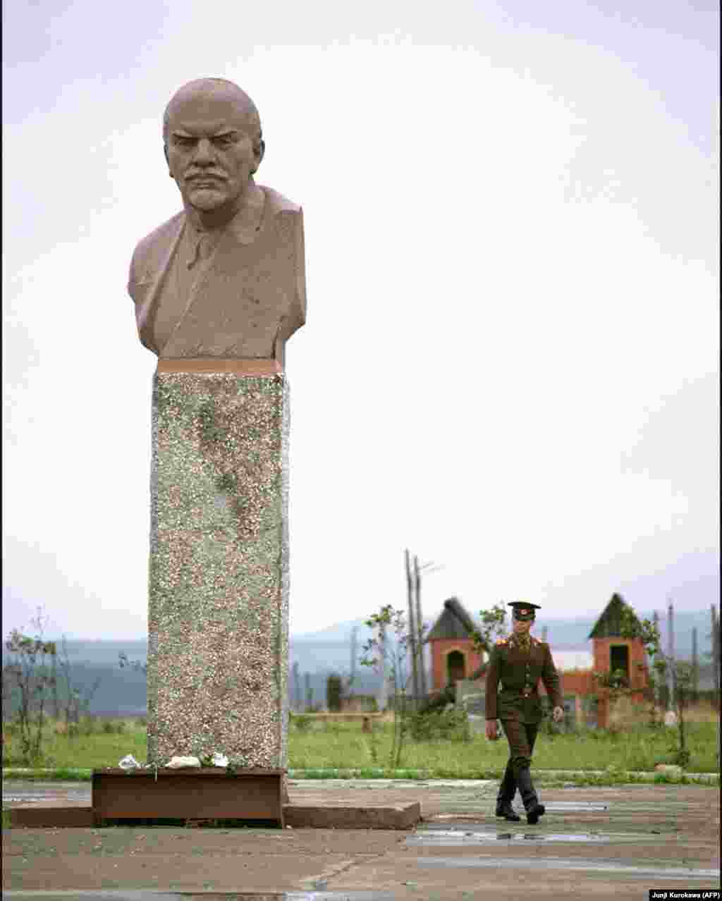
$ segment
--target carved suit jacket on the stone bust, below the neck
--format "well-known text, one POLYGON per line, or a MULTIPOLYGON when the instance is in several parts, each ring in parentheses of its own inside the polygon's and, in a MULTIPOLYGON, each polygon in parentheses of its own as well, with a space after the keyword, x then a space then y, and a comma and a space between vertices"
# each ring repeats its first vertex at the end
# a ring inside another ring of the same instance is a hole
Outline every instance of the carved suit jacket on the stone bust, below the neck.
POLYGON ((231 226, 198 264, 193 285, 178 290, 185 212, 138 243, 128 293, 142 344, 160 359, 278 359, 306 320, 303 214, 269 187, 260 224, 231 226))

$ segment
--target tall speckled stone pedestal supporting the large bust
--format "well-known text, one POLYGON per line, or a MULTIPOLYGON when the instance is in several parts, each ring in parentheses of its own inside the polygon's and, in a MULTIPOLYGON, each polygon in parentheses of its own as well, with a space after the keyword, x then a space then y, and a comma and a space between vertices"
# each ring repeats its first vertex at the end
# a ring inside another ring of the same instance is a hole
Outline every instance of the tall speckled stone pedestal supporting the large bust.
POLYGON ((148 760, 285 768, 288 385, 272 360, 223 367, 155 376, 148 760))

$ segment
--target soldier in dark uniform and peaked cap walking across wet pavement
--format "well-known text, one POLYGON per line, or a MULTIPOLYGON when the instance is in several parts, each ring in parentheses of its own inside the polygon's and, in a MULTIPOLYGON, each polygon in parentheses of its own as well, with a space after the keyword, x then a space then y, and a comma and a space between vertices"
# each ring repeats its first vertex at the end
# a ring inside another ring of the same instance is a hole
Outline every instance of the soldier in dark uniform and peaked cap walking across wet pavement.
POLYGON ((559 674, 549 645, 529 634, 535 610, 541 608, 525 601, 515 601, 508 606, 513 608, 514 632, 509 638, 499 639, 491 651, 487 669, 486 734, 492 741, 498 739, 498 718, 509 743, 507 769, 497 796, 497 816, 512 823, 519 822, 520 817, 511 805, 518 787, 526 810, 526 822, 534 825, 544 815, 544 805, 539 803, 529 771, 536 733, 544 715, 537 690, 540 678, 552 702, 555 723, 563 719, 564 711, 559 674))

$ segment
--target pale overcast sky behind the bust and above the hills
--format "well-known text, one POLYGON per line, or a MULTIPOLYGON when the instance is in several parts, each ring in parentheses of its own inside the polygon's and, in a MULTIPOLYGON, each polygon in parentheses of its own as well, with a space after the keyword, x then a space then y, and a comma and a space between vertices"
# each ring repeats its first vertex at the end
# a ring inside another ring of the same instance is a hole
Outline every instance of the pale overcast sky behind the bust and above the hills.
POLYGON ((151 381, 125 293, 230 78, 304 207, 291 629, 718 593, 712 0, 4 6, 4 629, 146 629, 151 381))

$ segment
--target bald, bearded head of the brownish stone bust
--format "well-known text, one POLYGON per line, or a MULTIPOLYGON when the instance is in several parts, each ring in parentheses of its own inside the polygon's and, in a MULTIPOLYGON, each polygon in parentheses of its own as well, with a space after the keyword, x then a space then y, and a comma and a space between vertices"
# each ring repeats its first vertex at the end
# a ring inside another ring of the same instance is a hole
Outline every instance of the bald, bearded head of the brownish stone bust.
POLYGON ((166 107, 163 150, 184 205, 233 213, 263 159, 258 110, 232 81, 189 81, 166 107))

